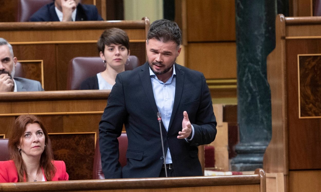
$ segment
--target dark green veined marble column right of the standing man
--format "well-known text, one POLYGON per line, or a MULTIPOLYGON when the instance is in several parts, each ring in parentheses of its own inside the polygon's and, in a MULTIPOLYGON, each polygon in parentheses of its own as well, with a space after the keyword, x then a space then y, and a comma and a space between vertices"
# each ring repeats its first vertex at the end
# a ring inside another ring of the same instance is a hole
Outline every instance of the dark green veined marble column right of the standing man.
POLYGON ((238 155, 233 171, 262 168, 271 140, 271 94, 266 57, 275 47, 276 0, 236 0, 238 155))

